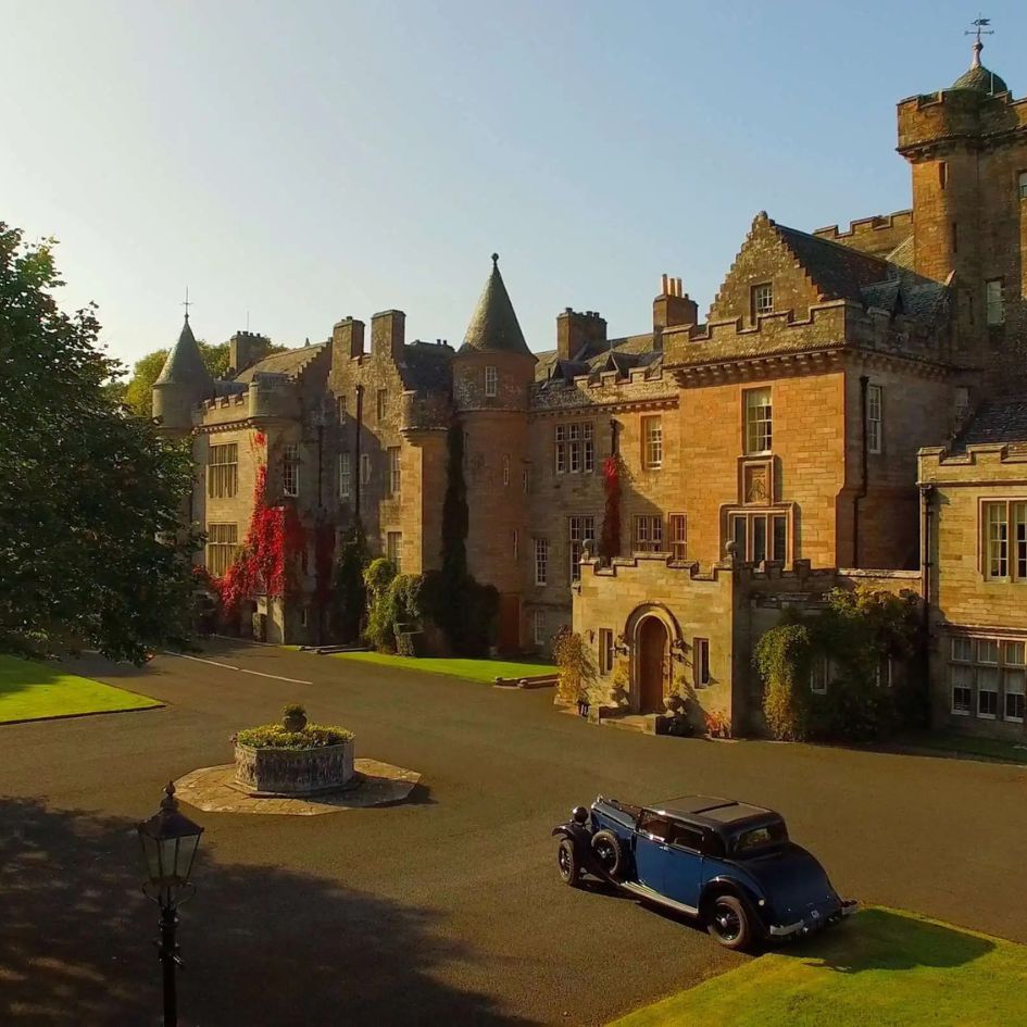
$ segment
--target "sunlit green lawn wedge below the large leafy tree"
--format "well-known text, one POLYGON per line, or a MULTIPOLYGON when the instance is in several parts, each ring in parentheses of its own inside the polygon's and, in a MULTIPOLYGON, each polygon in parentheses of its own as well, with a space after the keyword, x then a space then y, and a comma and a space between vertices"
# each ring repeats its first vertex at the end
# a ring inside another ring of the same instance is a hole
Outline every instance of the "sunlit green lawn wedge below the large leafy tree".
POLYGON ((47 663, 0 655, 0 724, 160 705, 147 696, 65 674, 47 663))

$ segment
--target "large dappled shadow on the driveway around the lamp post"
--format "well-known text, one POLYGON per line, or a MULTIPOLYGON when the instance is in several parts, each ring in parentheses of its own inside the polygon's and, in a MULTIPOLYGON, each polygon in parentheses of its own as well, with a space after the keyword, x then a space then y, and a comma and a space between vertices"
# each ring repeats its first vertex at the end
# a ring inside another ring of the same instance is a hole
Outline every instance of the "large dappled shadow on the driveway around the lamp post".
MULTIPOLYGON (((0 824, 0 1023, 158 1023, 158 914, 135 825, 12 799, 0 824)), ((200 852, 179 929, 184 1024, 531 1023, 438 979, 474 959, 438 914, 200 852)))

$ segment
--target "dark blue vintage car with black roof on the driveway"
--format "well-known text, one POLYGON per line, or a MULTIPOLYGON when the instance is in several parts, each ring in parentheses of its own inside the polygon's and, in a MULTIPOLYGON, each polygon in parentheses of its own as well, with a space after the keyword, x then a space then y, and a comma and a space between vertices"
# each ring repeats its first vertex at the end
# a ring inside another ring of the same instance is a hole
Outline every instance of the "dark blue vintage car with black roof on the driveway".
POLYGON ((634 806, 600 796, 553 835, 566 884, 592 874, 698 918, 728 949, 801 937, 856 907, 789 840, 779 814, 730 799, 686 796, 634 806))

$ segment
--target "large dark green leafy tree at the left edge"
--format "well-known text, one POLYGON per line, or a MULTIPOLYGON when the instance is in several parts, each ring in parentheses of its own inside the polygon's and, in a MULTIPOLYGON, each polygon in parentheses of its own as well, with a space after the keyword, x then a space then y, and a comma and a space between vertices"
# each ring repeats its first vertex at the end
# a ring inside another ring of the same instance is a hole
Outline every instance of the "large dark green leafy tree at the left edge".
POLYGON ((0 650, 141 662, 190 634, 184 447, 124 416, 93 308, 62 312, 52 242, 0 223, 0 650))

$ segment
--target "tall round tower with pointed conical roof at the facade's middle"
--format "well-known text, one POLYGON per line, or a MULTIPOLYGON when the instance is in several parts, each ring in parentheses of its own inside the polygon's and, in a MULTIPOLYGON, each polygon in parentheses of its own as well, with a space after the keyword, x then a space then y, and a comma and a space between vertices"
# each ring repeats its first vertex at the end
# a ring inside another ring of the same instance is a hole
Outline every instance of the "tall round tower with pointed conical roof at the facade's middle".
POLYGON ((500 593, 501 649, 521 647, 522 566, 528 559, 528 349, 499 273, 499 255, 453 358, 453 402, 464 430, 467 569, 500 593))

